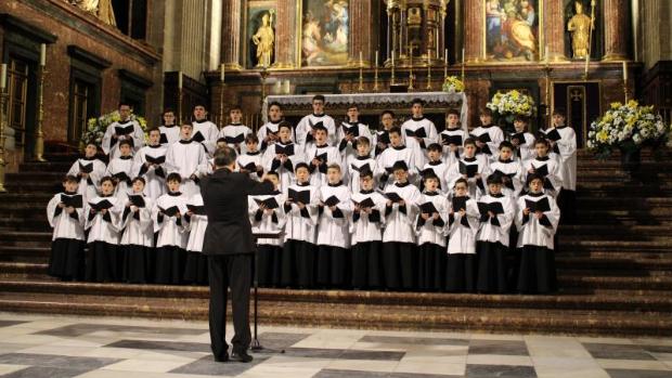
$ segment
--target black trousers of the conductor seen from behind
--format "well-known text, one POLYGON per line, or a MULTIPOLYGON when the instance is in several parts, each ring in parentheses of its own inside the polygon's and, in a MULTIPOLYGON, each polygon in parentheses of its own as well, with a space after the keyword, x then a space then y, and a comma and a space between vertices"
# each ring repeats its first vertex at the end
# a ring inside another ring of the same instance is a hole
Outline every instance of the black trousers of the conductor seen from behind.
POLYGON ((210 282, 210 348, 216 359, 223 359, 227 344, 227 289, 231 288, 234 336, 233 352, 247 351, 251 342, 249 331, 249 289, 251 283, 251 255, 208 256, 210 282))

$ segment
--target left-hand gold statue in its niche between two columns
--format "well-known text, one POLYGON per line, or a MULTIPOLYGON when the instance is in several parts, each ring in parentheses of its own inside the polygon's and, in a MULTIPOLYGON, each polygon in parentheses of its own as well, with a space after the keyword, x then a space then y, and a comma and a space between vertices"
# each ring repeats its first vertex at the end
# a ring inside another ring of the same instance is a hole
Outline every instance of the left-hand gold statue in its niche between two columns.
MULTIPOLYGON (((268 1, 258 3, 258 6, 247 10, 247 68, 270 67, 275 60, 275 24, 276 11, 268 6, 268 1)), ((255 4, 256 5, 256 4, 255 4)))

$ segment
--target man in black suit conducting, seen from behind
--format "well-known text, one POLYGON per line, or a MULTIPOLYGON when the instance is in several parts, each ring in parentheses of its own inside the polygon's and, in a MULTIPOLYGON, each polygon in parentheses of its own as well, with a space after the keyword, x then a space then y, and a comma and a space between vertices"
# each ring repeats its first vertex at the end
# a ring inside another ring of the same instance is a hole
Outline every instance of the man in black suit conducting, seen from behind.
POLYGON ((210 348, 215 360, 229 361, 225 341, 227 288, 231 288, 233 329, 231 360, 250 362, 249 290, 251 283, 253 240, 247 216, 247 196, 273 192, 269 181, 256 182, 248 174, 234 172, 235 152, 222 147, 215 153, 215 172, 202 180, 201 194, 208 226, 203 253, 208 257, 210 279, 210 348))

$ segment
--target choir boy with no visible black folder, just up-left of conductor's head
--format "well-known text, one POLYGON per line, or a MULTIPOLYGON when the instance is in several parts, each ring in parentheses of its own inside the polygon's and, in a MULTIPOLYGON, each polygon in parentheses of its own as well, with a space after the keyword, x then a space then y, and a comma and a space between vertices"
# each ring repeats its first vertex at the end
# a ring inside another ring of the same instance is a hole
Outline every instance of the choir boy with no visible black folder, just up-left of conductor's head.
POLYGON ((208 154, 203 144, 192 139, 193 126, 184 123, 180 127, 180 140, 168 147, 166 168, 168 173, 180 175, 180 192, 186 196, 201 193, 198 177, 203 167, 208 165, 208 154))

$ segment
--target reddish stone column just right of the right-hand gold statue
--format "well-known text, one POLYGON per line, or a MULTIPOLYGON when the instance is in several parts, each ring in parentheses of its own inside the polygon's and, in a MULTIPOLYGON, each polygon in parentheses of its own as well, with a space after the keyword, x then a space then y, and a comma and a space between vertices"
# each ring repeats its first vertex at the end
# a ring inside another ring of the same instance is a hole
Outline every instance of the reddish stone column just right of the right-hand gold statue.
POLYGON ((605 56, 603 61, 628 58, 630 36, 630 6, 628 0, 604 0, 605 56))

